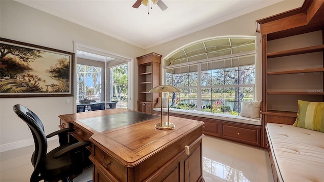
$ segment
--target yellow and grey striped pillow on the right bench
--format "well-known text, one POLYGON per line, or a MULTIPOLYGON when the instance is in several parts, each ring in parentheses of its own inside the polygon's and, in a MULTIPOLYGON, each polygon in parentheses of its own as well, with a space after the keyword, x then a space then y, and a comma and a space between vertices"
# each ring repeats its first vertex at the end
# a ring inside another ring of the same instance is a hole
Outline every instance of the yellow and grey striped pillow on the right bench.
POLYGON ((298 100, 297 127, 324 132, 324 102, 298 100))

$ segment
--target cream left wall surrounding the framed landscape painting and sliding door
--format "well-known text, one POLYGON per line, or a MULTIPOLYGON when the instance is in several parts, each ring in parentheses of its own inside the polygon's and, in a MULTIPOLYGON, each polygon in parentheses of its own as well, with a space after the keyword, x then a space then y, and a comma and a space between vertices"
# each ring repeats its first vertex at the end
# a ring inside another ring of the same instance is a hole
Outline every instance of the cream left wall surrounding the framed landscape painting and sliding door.
MULTIPOLYGON (((144 55, 144 50, 134 45, 15 1, 0 1, 0 37, 68 52, 73 52, 73 41, 77 41, 134 58, 134 65, 136 57, 144 55)), ((137 67, 133 72, 137 73, 137 67)), ((137 93, 134 96, 137 100, 137 93)), ((0 151, 33 144, 27 125, 13 112, 15 104, 34 111, 42 119, 46 134, 59 129, 59 115, 73 112, 73 97, 0 99, 0 151)))

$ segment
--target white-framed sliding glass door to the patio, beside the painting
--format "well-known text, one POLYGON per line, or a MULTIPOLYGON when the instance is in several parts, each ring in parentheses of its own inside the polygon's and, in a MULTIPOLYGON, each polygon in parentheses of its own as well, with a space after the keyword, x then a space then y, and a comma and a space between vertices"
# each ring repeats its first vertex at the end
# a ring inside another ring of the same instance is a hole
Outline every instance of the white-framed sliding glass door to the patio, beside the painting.
POLYGON ((76 112, 129 108, 130 60, 76 50, 76 112))

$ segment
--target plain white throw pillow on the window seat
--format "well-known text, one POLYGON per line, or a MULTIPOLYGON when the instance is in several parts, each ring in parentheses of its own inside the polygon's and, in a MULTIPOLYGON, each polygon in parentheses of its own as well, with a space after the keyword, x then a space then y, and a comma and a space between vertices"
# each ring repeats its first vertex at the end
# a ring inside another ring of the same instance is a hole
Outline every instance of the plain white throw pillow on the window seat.
POLYGON ((246 101, 241 104, 240 116, 253 119, 260 118, 261 101, 246 101))

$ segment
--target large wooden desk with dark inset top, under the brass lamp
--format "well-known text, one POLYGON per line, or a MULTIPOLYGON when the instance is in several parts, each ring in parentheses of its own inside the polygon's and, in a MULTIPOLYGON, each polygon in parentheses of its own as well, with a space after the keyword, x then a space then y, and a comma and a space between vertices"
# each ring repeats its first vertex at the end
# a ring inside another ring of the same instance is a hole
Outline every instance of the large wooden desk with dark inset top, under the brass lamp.
POLYGON ((93 143, 94 181, 205 181, 201 121, 171 116, 175 129, 158 130, 158 115, 127 109, 59 117, 61 128, 73 127, 76 139, 93 143))

